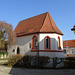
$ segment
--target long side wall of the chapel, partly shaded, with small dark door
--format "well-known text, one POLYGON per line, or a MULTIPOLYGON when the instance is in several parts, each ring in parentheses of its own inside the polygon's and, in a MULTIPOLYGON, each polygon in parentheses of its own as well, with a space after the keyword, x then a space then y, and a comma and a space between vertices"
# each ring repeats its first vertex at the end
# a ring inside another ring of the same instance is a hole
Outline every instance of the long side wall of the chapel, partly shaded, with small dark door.
MULTIPOLYGON (((38 37, 37 34, 34 34, 34 35, 38 37)), ((17 54, 17 48, 18 47, 20 49, 20 54, 23 54, 23 55, 36 55, 36 52, 35 53, 31 52, 32 38, 33 38, 34 35, 17 37, 16 44, 8 49, 9 55, 17 54), (31 43, 31 48, 29 48, 30 43, 31 43), (14 52, 13 52, 13 49, 15 49, 14 52)))

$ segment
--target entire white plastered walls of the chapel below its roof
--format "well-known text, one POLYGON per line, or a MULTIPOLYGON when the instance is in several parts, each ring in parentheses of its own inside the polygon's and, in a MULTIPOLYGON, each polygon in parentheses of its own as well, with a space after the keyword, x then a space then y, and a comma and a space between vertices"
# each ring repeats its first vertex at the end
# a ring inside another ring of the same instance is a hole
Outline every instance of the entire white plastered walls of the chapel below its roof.
MULTIPOLYGON (((46 36, 50 37, 51 50, 58 50, 58 36, 59 36, 60 40, 61 40, 61 48, 63 50, 62 36, 61 35, 50 34, 50 33, 48 33, 48 34, 47 33, 45 33, 45 34, 34 34, 34 35, 37 37, 37 40, 39 43, 39 50, 45 50, 44 49, 44 38, 46 36)), ((31 47, 32 47, 32 38, 34 35, 17 37, 16 44, 8 50, 9 54, 10 55, 17 54, 17 48, 19 47, 20 54, 33 55, 33 56, 37 55, 37 52, 31 52, 32 48, 29 48, 29 43, 31 43, 31 47), (13 52, 13 49, 15 49, 14 52, 13 52)), ((39 52, 39 55, 49 56, 49 57, 63 57, 63 52, 39 52)))

